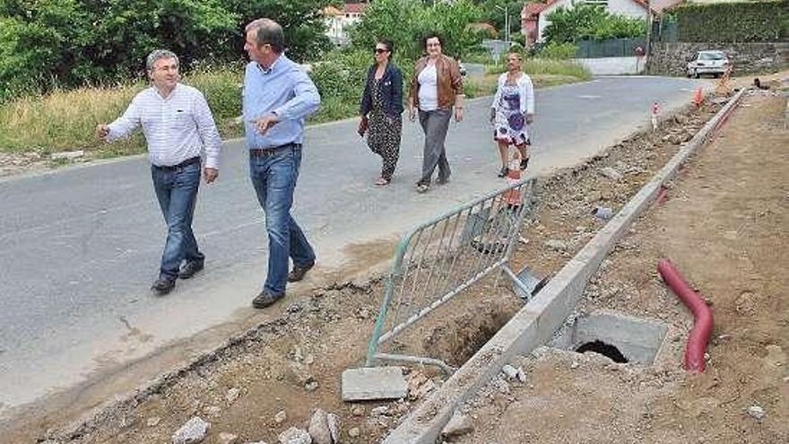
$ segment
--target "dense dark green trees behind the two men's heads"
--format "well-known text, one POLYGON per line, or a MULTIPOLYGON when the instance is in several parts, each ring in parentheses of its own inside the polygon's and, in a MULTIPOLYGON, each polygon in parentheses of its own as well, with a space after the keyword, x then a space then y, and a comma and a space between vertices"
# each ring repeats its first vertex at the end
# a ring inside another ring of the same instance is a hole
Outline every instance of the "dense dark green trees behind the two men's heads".
POLYGON ((21 93, 144 78, 156 48, 195 61, 246 57, 244 25, 282 24, 288 56, 320 57, 330 46, 321 10, 332 0, 0 1, 0 103, 21 93))

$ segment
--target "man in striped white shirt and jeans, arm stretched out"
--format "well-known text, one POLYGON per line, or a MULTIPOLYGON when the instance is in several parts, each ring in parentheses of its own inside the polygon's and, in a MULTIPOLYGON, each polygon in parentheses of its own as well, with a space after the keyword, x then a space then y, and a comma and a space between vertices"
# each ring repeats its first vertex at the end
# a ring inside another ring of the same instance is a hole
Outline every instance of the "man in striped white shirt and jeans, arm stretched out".
POLYGON ((178 83, 174 53, 155 50, 146 67, 152 86, 134 97, 123 116, 109 125, 99 125, 96 133, 109 143, 143 126, 153 188, 168 228, 159 278, 152 290, 167 294, 178 277, 188 279, 203 269, 205 257, 197 248, 192 216, 202 157, 203 177, 210 184, 219 174, 221 139, 203 93, 178 83))

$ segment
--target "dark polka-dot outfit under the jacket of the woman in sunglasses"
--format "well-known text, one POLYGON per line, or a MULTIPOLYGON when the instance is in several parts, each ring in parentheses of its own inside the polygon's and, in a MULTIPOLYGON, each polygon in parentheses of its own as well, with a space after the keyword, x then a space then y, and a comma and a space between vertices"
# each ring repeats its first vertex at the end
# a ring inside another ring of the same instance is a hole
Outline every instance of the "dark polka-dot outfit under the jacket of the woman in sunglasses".
POLYGON ((383 166, 381 177, 391 180, 395 174, 397 160, 400 158, 400 135, 403 130, 403 118, 386 114, 384 96, 380 88, 380 80, 371 80, 372 109, 369 112, 369 129, 367 144, 372 152, 381 156, 383 166))

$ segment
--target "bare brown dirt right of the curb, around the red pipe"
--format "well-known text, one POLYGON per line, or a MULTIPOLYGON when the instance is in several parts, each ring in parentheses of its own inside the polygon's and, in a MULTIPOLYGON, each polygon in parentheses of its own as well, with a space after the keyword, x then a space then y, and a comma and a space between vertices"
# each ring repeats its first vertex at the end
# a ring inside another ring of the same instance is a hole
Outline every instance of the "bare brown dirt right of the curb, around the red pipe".
POLYGON ((515 363, 525 383, 499 377, 464 407, 475 429, 453 442, 789 442, 785 111, 785 97, 744 100, 587 287, 579 316, 668 324, 655 365, 542 347, 515 363), (663 257, 712 307, 703 374, 682 370, 692 318, 656 273, 663 257))

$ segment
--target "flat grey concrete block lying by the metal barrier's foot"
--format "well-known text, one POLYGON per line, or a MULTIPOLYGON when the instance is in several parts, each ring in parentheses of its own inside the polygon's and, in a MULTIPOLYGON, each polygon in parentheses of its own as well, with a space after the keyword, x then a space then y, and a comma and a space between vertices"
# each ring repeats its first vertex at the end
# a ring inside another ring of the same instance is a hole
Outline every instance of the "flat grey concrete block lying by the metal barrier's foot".
POLYGON ((364 367, 342 372, 342 400, 400 399, 408 393, 401 367, 364 367))

